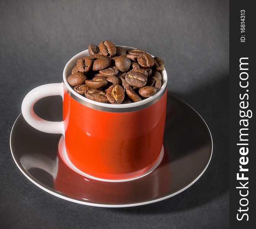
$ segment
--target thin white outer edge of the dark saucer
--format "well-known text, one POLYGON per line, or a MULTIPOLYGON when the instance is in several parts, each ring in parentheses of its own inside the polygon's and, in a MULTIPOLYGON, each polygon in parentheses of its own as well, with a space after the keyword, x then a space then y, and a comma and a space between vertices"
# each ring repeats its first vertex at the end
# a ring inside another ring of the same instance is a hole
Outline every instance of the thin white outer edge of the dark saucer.
MULTIPOLYGON (((175 97, 177 98, 177 97, 175 97)), ((183 100, 177 98, 178 100, 180 100, 181 102, 185 103, 186 105, 188 105, 190 108, 192 108, 198 115, 199 117, 204 121, 203 117, 192 107, 190 106, 188 103, 184 102, 183 100)), ((22 113, 19 114, 19 116, 22 115, 22 113)), ((161 197, 161 198, 157 198, 155 200, 149 200, 149 201, 144 201, 144 202, 138 202, 138 203, 129 203, 129 204, 122 204, 122 205, 111 205, 111 204, 100 204, 100 203, 91 203, 91 202, 85 202, 85 201, 81 201, 81 200, 76 200, 74 198, 70 198, 70 197, 67 197, 63 194, 58 194, 56 192, 53 192, 52 190, 50 190, 50 188, 45 188, 43 184, 41 184, 39 181, 36 181, 34 179, 32 179, 31 177, 28 176, 28 174, 26 174, 25 171, 23 171, 22 168, 20 168, 19 164, 17 163, 17 161, 15 160, 15 157, 13 155, 13 151, 12 151, 12 148, 11 148, 11 135, 12 135, 12 131, 13 131, 13 127, 15 126, 15 123, 16 121, 18 120, 19 116, 16 118, 12 128, 11 128, 11 133, 10 133, 10 149, 11 149, 11 155, 13 157, 13 160, 15 161, 15 164, 16 166, 19 168, 19 170, 21 171, 21 173, 23 173, 23 175, 29 179, 29 181, 31 181, 33 184, 35 184, 37 187, 41 188, 42 190, 44 190, 45 192, 48 192, 56 197, 59 197, 59 198, 62 198, 64 200, 68 200, 70 202, 73 202, 73 203, 79 203, 79 204, 82 204, 82 205, 88 205, 88 206, 96 206, 96 207, 105 207, 105 208, 123 208, 123 207, 134 207, 134 206, 141 206, 141 205, 147 205, 147 204, 150 204, 150 203, 156 203, 156 202, 159 202, 159 201, 162 201, 162 200, 166 200, 170 197, 173 197, 177 194, 180 194, 181 192, 183 192, 184 190, 188 189, 189 187, 191 187, 196 181, 199 180, 199 178, 204 174, 204 172, 206 171, 206 169, 208 168, 210 162, 211 162, 211 159, 212 159, 212 152, 213 152, 213 140, 212 140, 212 134, 211 134, 211 131, 206 123, 206 121, 204 121, 208 131, 209 131, 209 134, 211 136, 211 142, 212 142, 212 150, 211 150, 211 156, 209 158, 209 161, 206 165, 206 167, 204 168, 204 170, 201 172, 201 174, 199 174, 198 177, 196 177, 192 182, 190 182, 190 184, 186 185, 186 187, 183 187, 182 189, 178 190, 177 192, 173 193, 173 194, 170 194, 170 195, 167 195, 165 197, 161 197)))

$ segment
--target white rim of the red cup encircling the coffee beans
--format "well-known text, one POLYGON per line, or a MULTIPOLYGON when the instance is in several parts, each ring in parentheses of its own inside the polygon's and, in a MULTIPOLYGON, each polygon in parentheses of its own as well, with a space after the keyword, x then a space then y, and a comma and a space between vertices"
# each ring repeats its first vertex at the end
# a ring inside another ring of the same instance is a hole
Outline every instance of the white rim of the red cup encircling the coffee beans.
MULTIPOLYGON (((124 48, 125 50, 128 50, 130 48, 133 48, 133 47, 128 47, 128 46, 122 46, 122 45, 118 45, 122 48, 124 48)), ((150 54, 151 55, 151 54, 150 54)), ((100 103, 100 102, 96 102, 94 100, 90 100, 86 97, 83 97, 82 95, 78 94, 77 92, 75 92, 75 90, 68 84, 68 81, 67 81, 67 78, 68 76, 70 76, 71 74, 71 71, 72 69, 75 67, 76 65, 76 61, 80 58, 83 58, 84 56, 89 56, 89 52, 88 52, 88 49, 76 54, 75 56, 73 56, 69 61, 68 63, 66 63, 66 66, 63 70, 63 82, 65 84, 65 86, 67 87, 67 89, 70 91, 70 93, 72 93, 73 95, 75 95, 76 97, 80 98, 81 100, 84 100, 86 102, 89 102, 89 103, 92 103, 94 105, 98 105, 98 106, 104 106, 104 107, 109 107, 109 108, 130 108, 130 107, 135 107, 135 106, 141 106, 141 105, 144 105, 146 103, 149 103, 151 102, 152 100, 154 100, 155 98, 157 98, 159 95, 162 95, 163 91, 166 89, 167 87, 167 72, 165 70, 165 68, 163 68, 160 73, 162 75, 162 87, 159 89, 159 91, 149 97, 149 98, 146 98, 144 100, 141 100, 139 102, 136 102, 136 103, 127 103, 127 104, 111 104, 111 103, 100 103)), ((153 55, 151 55, 153 56, 153 55)), ((153 56, 154 57, 154 56, 153 56)))

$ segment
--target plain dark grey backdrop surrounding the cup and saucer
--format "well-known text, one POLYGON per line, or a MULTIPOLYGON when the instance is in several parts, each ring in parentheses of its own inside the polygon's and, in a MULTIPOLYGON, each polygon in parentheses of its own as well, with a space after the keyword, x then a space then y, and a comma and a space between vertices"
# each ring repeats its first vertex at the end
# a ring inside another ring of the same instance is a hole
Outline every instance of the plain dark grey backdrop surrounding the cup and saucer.
POLYGON ((0 225, 3 228, 228 228, 228 1, 0 1, 0 225), (105 209, 45 193, 11 157, 11 127, 29 90, 61 82, 66 62, 112 40, 165 61, 169 93, 212 131, 206 173, 181 194, 105 209))

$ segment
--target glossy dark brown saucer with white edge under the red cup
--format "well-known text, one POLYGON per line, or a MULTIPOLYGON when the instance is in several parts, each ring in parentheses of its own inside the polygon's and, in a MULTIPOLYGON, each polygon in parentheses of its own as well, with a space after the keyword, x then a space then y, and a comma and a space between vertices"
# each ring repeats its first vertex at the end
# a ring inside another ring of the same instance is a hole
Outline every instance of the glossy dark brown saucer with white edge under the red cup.
MULTIPOLYGON (((59 97, 44 98, 34 109, 44 119, 62 120, 62 100, 59 97)), ((59 134, 37 131, 20 114, 10 137, 15 163, 41 189, 92 206, 138 206, 172 197, 199 179, 212 155, 212 137, 203 118, 172 96, 167 101, 164 158, 152 173, 139 179, 102 182, 81 176, 61 160, 58 153, 60 137, 59 134)))

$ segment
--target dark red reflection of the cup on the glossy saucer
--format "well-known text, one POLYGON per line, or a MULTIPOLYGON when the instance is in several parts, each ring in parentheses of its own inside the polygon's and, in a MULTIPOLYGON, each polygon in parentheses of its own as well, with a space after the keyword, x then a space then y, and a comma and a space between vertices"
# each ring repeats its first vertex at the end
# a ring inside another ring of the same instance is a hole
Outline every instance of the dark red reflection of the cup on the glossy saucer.
POLYGON ((102 182, 84 177, 71 170, 63 162, 59 153, 58 173, 53 179, 53 186, 58 192, 88 202, 102 204, 125 204, 133 202, 134 195, 140 200, 152 199, 168 191, 171 171, 170 160, 165 148, 165 154, 160 165, 146 177, 128 182, 102 182))

